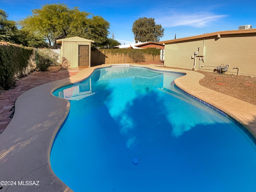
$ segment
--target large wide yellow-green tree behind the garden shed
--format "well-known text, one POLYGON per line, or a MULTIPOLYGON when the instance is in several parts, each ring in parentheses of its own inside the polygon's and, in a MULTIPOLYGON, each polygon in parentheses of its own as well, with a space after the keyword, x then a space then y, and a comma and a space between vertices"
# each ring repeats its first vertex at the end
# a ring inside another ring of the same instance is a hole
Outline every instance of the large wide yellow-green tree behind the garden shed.
POLYGON ((109 23, 100 16, 80 12, 77 7, 65 4, 46 4, 42 9, 32 10, 32 16, 20 21, 23 30, 42 35, 51 43, 57 39, 80 36, 101 44, 107 40, 109 23), (88 18, 92 16, 92 18, 88 18), (103 28, 101 28, 103 27, 103 28), (93 34, 92 34, 93 33, 93 34))

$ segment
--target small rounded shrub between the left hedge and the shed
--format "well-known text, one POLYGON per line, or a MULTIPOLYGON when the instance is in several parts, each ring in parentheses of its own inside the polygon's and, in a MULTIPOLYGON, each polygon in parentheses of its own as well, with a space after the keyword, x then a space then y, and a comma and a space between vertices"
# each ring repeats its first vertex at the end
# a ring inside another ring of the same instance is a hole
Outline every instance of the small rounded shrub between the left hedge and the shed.
POLYGON ((36 68, 46 71, 50 66, 56 66, 59 55, 51 49, 38 49, 36 51, 36 68))

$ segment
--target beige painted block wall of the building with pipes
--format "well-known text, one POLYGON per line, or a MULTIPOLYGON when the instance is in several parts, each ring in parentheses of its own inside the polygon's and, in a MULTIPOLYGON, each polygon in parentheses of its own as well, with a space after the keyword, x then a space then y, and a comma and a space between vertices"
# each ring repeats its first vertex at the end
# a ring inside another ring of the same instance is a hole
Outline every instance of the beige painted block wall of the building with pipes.
POLYGON ((191 56, 199 52, 196 57, 196 70, 213 71, 221 64, 230 65, 226 74, 256 75, 256 34, 222 34, 215 36, 170 42, 165 45, 164 65, 192 69, 194 59, 191 56), (204 46, 204 55, 201 54, 204 46), (199 49, 199 50, 198 50, 199 49), (200 60, 205 56, 205 62, 200 60), (208 65, 208 66, 206 66, 208 65))

